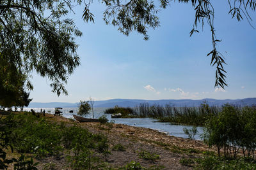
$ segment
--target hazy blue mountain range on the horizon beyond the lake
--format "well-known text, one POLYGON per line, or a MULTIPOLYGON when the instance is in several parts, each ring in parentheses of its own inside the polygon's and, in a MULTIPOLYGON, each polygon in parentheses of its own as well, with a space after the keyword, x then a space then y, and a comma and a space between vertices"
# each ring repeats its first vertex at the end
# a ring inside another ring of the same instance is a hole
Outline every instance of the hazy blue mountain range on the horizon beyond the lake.
MULTIPOLYGON (((173 106, 200 106, 200 104, 206 102, 209 106, 222 106, 223 104, 229 103, 237 106, 252 106, 256 105, 256 97, 255 98, 245 98, 245 99, 200 99, 200 100, 191 100, 191 99, 166 99, 166 100, 141 100, 141 99, 110 99, 107 101, 95 101, 95 108, 112 108, 117 106, 122 107, 135 107, 140 105, 141 103, 148 103, 150 105, 159 104, 164 106, 165 104, 171 104, 173 106)), ((79 103, 60 103, 60 102, 51 102, 51 103, 30 103, 29 108, 76 108, 79 103)))

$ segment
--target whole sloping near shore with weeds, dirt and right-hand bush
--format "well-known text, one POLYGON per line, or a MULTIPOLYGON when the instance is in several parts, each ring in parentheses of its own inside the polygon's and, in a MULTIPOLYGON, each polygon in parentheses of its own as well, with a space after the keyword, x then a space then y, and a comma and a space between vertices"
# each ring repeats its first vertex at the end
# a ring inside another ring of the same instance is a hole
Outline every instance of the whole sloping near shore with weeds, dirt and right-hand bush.
POLYGON ((253 107, 224 106, 207 119, 204 141, 29 112, 0 121, 0 169, 256 169, 253 107))

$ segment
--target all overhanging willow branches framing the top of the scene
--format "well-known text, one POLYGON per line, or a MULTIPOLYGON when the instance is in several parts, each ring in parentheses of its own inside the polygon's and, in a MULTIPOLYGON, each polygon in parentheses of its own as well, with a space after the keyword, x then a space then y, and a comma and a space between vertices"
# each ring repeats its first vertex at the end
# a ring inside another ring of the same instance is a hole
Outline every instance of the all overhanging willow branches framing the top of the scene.
MULTIPOLYGON (((255 0, 227 0, 230 4, 230 15, 237 20, 246 18, 250 24, 251 18, 247 10, 255 11, 255 0), (243 16, 242 16, 243 15, 243 16)), ((132 31, 143 34, 148 39, 149 28, 158 27, 159 18, 157 12, 166 8, 170 2, 160 0, 157 7, 154 1, 147 0, 102 0, 106 5, 103 19, 106 24, 118 27, 125 35, 132 31)), ((220 42, 216 38, 214 28, 214 6, 211 0, 179 0, 180 3, 191 2, 195 8, 195 23, 190 34, 199 32, 198 24, 204 25, 205 21, 211 27, 212 51, 211 64, 216 66, 215 87, 224 88, 225 82, 225 59, 216 46, 220 42)), ((2 0, 0 1, 0 53, 4 60, 12 63, 26 76, 28 89, 33 89, 29 81, 32 71, 47 77, 52 81, 52 92, 58 96, 67 94, 65 83, 68 76, 74 73, 79 66, 77 44, 75 37, 81 36, 68 13, 76 5, 84 5, 83 19, 85 22, 94 21, 90 12, 92 0, 2 0)))

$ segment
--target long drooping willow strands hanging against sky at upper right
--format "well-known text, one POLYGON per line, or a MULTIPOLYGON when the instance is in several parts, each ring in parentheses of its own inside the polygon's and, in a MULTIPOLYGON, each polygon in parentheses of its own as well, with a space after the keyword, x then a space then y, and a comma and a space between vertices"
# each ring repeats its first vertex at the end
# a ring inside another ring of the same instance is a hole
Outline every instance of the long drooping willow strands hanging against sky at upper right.
MULTIPOLYGON (((248 20, 248 23, 252 26, 251 21, 252 18, 248 14, 248 8, 255 11, 256 1, 255 0, 227 0, 230 6, 229 13, 232 15, 232 18, 236 16, 237 20, 243 20, 241 15, 241 11, 248 20), (233 6, 231 5, 233 4, 233 6)), ((188 0, 180 0, 180 2, 188 3, 188 0)), ((210 0, 191 0, 192 6, 195 8, 195 22, 193 25, 193 29, 190 32, 190 36, 194 32, 199 32, 196 30, 198 24, 202 24, 204 27, 204 21, 207 21, 207 24, 211 28, 211 39, 212 39, 212 51, 207 54, 207 56, 211 56, 211 66, 216 67, 216 75, 215 75, 215 87, 225 88, 227 86, 226 76, 227 71, 224 69, 225 57, 217 50, 217 43, 221 40, 216 38, 216 30, 214 28, 214 7, 211 4, 210 0)), ((253 27, 253 26, 252 26, 253 27)), ((253 27, 254 28, 254 27, 253 27)))

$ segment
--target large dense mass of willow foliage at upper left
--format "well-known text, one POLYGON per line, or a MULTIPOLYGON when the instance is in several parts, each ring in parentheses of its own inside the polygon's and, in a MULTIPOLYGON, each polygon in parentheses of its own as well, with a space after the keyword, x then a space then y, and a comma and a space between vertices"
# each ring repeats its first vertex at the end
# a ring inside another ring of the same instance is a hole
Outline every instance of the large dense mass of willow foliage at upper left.
POLYGON ((81 32, 68 15, 71 1, 8 1, 0 3, 0 53, 26 75, 32 71, 52 81, 58 96, 67 90, 68 75, 79 65, 74 36, 81 32))

